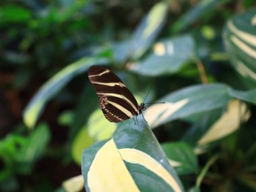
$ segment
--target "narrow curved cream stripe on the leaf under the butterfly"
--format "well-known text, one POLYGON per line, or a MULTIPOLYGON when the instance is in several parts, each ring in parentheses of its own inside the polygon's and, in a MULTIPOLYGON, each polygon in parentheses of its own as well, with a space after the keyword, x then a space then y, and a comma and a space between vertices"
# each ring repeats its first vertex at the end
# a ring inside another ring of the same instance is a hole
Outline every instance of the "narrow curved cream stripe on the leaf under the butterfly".
POLYGON ((136 149, 124 148, 119 149, 119 152, 123 158, 123 160, 133 163, 140 164, 141 166, 146 167, 148 170, 154 172, 159 177, 161 177, 170 187, 176 191, 181 192, 181 188, 178 183, 175 181, 174 177, 154 158, 149 156, 148 154, 141 152, 136 149))

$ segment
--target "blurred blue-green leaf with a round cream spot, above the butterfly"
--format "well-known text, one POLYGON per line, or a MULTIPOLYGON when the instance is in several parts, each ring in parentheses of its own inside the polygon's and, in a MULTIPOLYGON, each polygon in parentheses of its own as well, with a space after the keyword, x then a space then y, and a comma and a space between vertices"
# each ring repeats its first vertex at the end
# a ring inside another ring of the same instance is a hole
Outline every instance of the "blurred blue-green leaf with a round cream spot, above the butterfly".
POLYGON ((161 40, 154 44, 153 53, 143 61, 129 65, 129 69, 150 76, 176 73, 193 57, 194 46, 189 35, 161 40))

